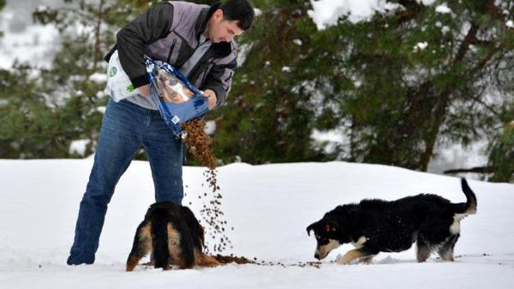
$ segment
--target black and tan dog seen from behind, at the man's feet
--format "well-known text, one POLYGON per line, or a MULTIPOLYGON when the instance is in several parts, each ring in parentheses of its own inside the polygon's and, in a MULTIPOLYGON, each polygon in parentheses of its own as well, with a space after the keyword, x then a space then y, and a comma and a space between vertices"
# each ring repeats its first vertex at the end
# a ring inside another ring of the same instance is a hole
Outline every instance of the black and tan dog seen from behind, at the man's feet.
POLYGON ((154 203, 136 230, 127 271, 134 270, 149 252, 154 255, 155 268, 164 270, 171 265, 180 269, 221 265, 202 252, 203 245, 204 228, 189 208, 168 201, 154 203))

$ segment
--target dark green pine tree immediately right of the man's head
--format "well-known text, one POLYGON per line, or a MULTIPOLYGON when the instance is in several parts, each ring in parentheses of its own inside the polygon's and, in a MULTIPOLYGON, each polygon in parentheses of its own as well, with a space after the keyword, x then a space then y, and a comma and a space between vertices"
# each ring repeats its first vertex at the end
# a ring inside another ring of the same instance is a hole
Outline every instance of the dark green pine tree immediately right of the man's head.
POLYGON ((219 127, 216 155, 252 164, 323 160, 310 139, 316 112, 304 87, 318 69, 311 62, 315 27, 306 14, 308 1, 254 3, 262 15, 237 39, 246 60, 227 103, 209 116, 219 127))

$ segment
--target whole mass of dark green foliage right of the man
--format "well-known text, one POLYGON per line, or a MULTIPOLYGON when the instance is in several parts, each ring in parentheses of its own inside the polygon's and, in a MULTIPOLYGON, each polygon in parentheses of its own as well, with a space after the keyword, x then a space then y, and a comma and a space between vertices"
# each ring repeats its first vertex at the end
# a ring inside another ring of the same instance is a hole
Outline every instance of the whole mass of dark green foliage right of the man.
POLYGON ((448 14, 435 11, 448 1, 391 2, 406 9, 360 23, 343 17, 318 31, 308 1, 255 1, 262 16, 238 40, 251 49, 228 105, 211 116, 217 155, 251 163, 337 155, 425 171, 436 143, 499 134, 503 103, 488 94, 513 92, 507 68, 493 77, 513 63, 503 13, 513 12, 512 1, 454 1, 448 14), (335 128, 347 131, 347 145, 319 151, 313 129, 335 128))

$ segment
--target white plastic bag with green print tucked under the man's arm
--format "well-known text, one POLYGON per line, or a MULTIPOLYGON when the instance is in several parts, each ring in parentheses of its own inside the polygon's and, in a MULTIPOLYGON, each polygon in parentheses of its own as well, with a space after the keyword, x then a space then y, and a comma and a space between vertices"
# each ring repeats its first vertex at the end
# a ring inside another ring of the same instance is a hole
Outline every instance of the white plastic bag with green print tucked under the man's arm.
POLYGON ((121 67, 118 51, 112 53, 107 66, 107 89, 110 97, 116 102, 138 95, 137 89, 134 88, 127 73, 121 67))

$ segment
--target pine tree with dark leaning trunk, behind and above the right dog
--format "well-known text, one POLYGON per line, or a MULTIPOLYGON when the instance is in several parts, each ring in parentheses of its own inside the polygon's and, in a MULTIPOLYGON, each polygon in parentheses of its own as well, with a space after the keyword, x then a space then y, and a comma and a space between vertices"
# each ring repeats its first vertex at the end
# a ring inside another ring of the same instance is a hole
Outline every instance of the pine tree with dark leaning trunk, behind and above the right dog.
POLYGON ((438 140, 469 143, 498 122, 502 103, 486 98, 493 68, 512 61, 511 32, 494 1, 454 2, 451 14, 403 2, 411 10, 352 25, 364 47, 347 64, 362 84, 344 102, 364 162, 426 171, 438 140))

